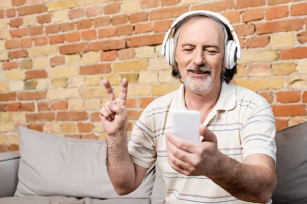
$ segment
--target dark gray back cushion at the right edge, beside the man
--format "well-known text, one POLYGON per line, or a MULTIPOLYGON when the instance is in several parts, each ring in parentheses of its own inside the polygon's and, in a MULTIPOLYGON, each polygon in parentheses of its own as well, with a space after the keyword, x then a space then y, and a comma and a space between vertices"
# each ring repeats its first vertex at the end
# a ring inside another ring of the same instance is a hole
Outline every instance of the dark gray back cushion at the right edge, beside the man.
POLYGON ((307 203, 307 122, 276 133, 273 203, 307 203))

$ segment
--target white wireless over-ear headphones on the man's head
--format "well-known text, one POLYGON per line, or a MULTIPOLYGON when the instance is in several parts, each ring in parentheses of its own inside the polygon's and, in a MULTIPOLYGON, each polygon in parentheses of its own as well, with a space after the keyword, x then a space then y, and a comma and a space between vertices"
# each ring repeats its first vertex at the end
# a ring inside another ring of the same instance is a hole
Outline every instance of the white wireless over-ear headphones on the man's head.
POLYGON ((227 44, 226 44, 226 48, 225 48, 225 57, 226 57, 226 64, 225 67, 227 69, 232 69, 237 60, 241 59, 241 47, 240 47, 240 43, 239 43, 239 39, 238 36, 236 35, 236 33, 234 32, 234 29, 232 28, 229 20, 227 18, 225 18, 223 15, 219 14, 219 13, 215 13, 212 11, 203 11, 203 10, 199 10, 199 11, 190 11, 187 13, 182 14, 181 16, 179 16, 172 24, 170 29, 167 31, 164 40, 163 40, 163 44, 162 44, 162 49, 161 49, 161 55, 165 56, 166 61, 168 62, 169 65, 171 65, 172 62, 172 53, 174 52, 174 39, 173 38, 169 38, 172 29, 175 27, 175 25, 180 22, 182 19, 184 19, 185 17, 192 15, 192 14, 205 14, 205 15, 211 15, 211 16, 215 16, 216 18, 220 19, 225 25, 227 25, 227 27, 229 28, 230 32, 232 33, 234 40, 228 40, 227 44))

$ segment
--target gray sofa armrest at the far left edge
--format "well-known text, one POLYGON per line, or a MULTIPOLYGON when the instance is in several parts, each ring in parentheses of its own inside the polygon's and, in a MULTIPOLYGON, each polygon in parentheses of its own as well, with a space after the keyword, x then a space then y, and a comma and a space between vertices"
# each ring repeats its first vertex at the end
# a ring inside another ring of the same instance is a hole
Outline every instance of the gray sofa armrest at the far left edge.
POLYGON ((18 183, 19 151, 0 153, 0 198, 14 195, 18 183))

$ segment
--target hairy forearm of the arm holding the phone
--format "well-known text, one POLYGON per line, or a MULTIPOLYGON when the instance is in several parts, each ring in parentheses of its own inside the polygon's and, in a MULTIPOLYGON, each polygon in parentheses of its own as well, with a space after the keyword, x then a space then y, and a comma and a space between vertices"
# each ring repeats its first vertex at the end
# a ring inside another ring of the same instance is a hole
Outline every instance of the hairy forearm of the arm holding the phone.
MULTIPOLYGON (((222 154, 222 153, 221 153, 222 154)), ((231 195, 248 202, 267 203, 277 179, 269 169, 237 162, 222 154, 220 171, 210 179, 231 195)))

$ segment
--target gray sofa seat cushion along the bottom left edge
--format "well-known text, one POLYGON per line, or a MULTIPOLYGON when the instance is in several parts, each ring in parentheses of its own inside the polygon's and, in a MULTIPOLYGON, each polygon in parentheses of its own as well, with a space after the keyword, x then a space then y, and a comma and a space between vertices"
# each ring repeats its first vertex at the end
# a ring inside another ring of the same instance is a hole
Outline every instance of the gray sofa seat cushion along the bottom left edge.
POLYGON ((19 196, 0 198, 0 204, 150 204, 150 199, 137 198, 115 198, 115 199, 91 199, 63 196, 19 196))

